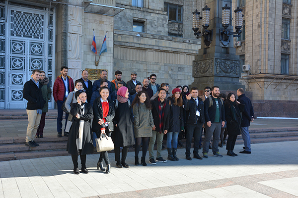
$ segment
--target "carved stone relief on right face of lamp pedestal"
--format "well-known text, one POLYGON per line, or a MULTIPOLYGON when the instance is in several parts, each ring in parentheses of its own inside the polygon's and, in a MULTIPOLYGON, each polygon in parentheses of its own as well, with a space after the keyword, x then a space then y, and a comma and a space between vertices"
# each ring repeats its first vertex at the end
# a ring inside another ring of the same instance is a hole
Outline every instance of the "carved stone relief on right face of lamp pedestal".
POLYGON ((240 61, 238 60, 215 59, 215 67, 217 74, 234 74, 238 76, 240 73, 240 61))

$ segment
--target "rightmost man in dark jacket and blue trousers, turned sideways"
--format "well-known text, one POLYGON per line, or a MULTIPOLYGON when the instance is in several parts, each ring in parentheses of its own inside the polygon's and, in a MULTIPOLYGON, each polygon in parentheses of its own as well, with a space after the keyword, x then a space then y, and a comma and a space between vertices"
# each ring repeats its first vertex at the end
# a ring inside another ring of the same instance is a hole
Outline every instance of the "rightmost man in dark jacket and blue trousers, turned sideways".
POLYGON ((237 90, 238 101, 241 104, 245 104, 244 111, 242 113, 242 123, 241 123, 241 136, 244 142, 245 150, 240 151, 240 153, 250 154, 250 136, 248 132, 248 128, 250 126, 250 122, 254 121, 254 113, 253 107, 251 105, 251 101, 244 94, 244 90, 242 88, 237 90))

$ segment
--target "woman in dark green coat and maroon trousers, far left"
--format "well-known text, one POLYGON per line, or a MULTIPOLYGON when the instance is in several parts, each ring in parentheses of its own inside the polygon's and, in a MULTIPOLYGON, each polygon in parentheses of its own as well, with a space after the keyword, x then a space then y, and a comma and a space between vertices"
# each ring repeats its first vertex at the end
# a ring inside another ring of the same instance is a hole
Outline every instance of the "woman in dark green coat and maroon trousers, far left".
POLYGON ((46 101, 46 103, 42 109, 41 119, 40 119, 39 126, 37 128, 35 138, 43 138, 43 129, 45 127, 46 113, 48 112, 48 108, 49 108, 49 100, 52 97, 52 90, 50 87, 49 79, 46 77, 46 73, 44 71, 40 71, 39 83, 42 85, 41 87, 42 98, 46 101))

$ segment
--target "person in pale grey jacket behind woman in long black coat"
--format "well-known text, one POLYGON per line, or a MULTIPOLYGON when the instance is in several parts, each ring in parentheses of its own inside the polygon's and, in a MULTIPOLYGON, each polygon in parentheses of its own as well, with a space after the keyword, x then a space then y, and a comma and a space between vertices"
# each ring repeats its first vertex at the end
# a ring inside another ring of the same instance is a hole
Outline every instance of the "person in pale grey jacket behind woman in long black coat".
MULTIPOLYGON (((82 82, 79 80, 76 80, 74 82, 74 91, 69 93, 68 98, 65 100, 65 108, 67 109, 68 112, 71 112, 72 103, 77 102, 76 98, 74 97, 75 92, 77 92, 78 90, 82 90, 82 89, 83 89, 82 82)), ((69 117, 67 119, 66 128, 65 128, 66 135, 69 134, 73 121, 74 121, 74 117, 71 114, 69 114, 69 117)))

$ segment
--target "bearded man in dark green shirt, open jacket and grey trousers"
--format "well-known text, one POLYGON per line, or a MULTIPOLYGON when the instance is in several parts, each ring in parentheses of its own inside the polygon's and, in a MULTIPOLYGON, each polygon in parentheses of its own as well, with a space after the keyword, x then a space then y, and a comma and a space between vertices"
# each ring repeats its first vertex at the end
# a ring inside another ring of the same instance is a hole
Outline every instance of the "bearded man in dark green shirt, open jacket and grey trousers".
POLYGON ((212 96, 204 101, 205 112, 205 139, 203 143, 203 157, 208 158, 209 143, 213 135, 212 151, 213 156, 223 157, 219 152, 219 141, 221 136, 222 127, 224 126, 224 102, 220 98, 220 88, 213 86, 211 88, 212 96))

